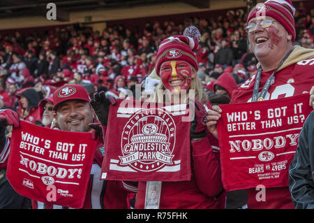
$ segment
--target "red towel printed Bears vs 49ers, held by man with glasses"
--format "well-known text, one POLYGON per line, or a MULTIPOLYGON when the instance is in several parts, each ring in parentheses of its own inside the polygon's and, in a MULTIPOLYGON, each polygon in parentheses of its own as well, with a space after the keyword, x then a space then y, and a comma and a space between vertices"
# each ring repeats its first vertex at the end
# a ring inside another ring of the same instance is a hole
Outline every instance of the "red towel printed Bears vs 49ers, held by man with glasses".
POLYGON ((222 105, 218 138, 226 191, 287 187, 288 169, 308 114, 309 94, 222 105))

